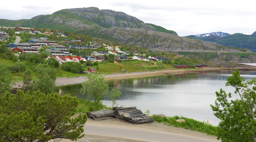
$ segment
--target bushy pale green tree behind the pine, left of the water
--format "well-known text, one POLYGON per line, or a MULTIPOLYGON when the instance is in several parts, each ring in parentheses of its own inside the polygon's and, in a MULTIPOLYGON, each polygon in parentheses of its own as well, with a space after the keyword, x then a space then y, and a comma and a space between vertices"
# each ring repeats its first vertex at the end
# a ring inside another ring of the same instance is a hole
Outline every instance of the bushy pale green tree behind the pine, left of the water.
POLYGON ((56 69, 49 67, 47 64, 38 64, 36 67, 37 80, 33 80, 32 87, 33 91, 38 89, 45 93, 55 92, 56 90, 56 69))

